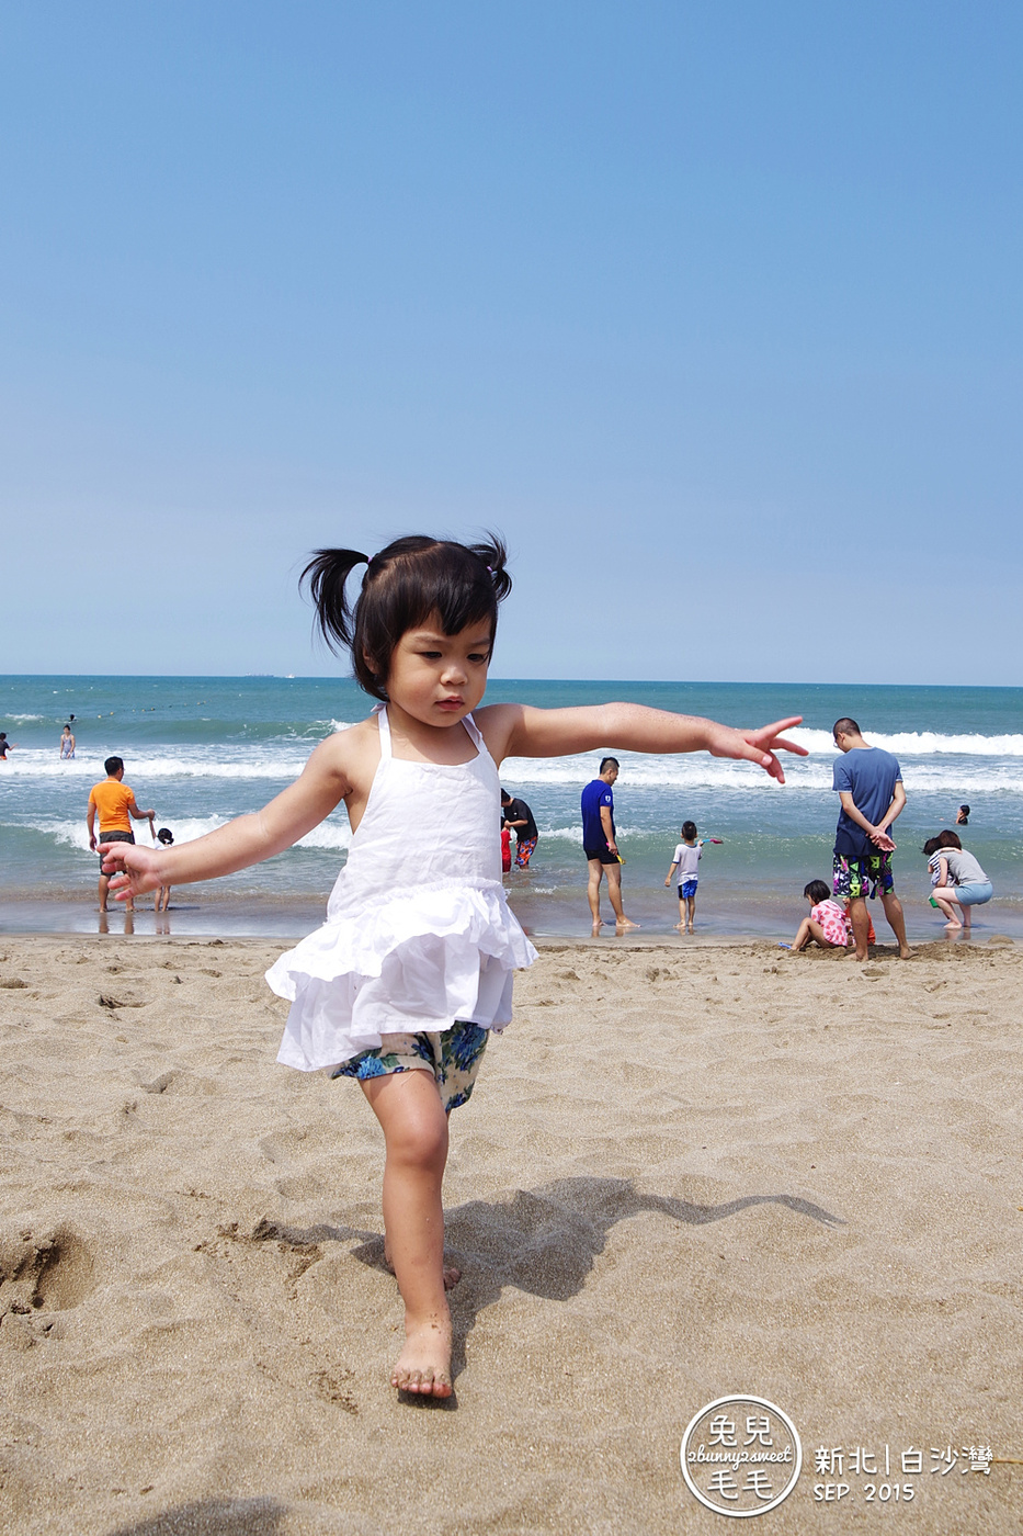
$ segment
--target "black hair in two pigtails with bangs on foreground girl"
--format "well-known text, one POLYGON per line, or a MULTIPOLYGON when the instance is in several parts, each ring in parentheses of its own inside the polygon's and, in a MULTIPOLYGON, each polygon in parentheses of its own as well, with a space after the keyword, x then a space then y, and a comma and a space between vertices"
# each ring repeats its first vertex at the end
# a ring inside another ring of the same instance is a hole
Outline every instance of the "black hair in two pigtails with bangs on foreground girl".
POLYGON ((387 702, 387 674, 402 634, 438 616, 444 634, 470 624, 498 630, 498 604, 512 591, 508 551, 496 533, 485 544, 456 544, 410 535, 372 558, 358 550, 316 550, 300 578, 309 584, 315 625, 335 654, 349 651, 356 682, 387 702), (344 587, 356 565, 369 565, 355 607, 344 587))

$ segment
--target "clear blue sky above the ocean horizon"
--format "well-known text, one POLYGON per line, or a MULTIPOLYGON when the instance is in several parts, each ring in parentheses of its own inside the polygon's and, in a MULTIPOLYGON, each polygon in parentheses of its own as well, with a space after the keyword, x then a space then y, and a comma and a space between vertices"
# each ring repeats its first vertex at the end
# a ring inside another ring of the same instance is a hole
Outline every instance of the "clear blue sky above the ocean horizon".
POLYGON ((5 6, 0 671, 1023 684, 1017 5, 5 6))

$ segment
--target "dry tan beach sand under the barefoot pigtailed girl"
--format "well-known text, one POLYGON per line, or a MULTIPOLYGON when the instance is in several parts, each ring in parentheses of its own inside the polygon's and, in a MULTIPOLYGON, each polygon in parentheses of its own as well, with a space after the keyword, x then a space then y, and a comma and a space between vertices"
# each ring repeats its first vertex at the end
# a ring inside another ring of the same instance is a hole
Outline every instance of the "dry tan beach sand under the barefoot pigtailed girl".
POLYGON ((3 1531, 720 1531, 679 1442, 731 1392, 803 1441, 756 1528, 1023 1530, 1023 952, 548 946, 453 1118, 456 1396, 404 1404, 379 1134, 275 1064, 280 948, 0 940, 3 1531))

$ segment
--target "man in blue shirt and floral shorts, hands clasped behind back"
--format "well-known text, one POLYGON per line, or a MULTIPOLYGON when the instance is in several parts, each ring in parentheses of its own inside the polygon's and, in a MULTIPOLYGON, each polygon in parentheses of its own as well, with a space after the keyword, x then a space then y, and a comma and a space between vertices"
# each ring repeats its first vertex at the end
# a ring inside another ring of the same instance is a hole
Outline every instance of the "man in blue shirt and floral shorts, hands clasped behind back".
POLYGON ((899 759, 865 742, 859 725, 848 716, 834 722, 833 736, 842 753, 836 760, 831 785, 842 796, 834 834, 834 894, 849 903, 856 958, 866 960, 866 897, 872 900, 880 888, 885 917, 899 940, 899 954, 908 960, 912 949, 906 945, 906 920, 891 872, 896 843, 888 834, 906 803, 899 759))

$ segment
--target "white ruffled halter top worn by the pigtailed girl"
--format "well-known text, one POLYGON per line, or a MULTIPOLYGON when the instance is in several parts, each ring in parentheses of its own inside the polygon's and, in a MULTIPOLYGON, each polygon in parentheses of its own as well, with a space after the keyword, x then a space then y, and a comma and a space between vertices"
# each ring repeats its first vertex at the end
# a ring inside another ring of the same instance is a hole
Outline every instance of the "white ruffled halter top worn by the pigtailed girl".
POLYGON ((313 1072, 384 1034, 512 1020, 512 977, 536 951, 501 883, 498 768, 472 714, 467 763, 407 762, 378 710, 379 766, 327 922, 266 974, 289 998, 276 1060, 313 1072))

